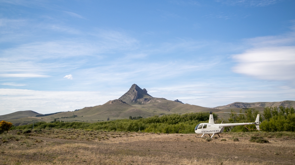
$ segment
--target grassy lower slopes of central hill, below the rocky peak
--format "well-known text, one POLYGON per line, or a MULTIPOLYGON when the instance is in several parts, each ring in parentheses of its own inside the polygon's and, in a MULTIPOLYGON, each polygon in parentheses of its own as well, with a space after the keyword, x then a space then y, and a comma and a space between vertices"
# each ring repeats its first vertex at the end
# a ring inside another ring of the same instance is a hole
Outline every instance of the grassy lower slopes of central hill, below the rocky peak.
MULTIPOLYGON (((114 119, 128 119, 129 116, 151 117, 155 115, 168 115, 168 114, 184 114, 188 112, 201 112, 209 110, 206 107, 196 105, 181 104, 163 98, 153 98, 153 100, 144 105, 129 105, 122 100, 112 100, 106 102, 104 105, 95 107, 85 107, 75 112, 62 112, 55 115, 45 116, 43 118, 54 119, 63 121, 106 121, 109 117, 110 120, 114 119), (62 118, 71 117, 76 115, 75 118, 62 118), (83 117, 82 117, 83 116, 83 117)), ((209 110, 210 111, 210 110, 209 110)))

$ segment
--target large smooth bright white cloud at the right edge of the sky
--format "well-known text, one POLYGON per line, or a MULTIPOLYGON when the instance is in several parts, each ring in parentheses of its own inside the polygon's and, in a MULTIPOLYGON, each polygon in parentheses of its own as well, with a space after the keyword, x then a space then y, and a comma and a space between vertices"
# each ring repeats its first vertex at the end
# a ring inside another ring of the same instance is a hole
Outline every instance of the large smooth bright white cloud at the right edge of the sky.
POLYGON ((295 82, 295 46, 253 48, 234 55, 236 73, 266 80, 295 82))

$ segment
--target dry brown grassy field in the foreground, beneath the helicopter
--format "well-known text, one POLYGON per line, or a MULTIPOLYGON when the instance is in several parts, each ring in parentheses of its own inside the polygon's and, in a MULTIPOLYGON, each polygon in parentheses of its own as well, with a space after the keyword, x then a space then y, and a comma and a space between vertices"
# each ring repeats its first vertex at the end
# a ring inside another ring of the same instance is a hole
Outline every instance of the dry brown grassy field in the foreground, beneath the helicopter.
POLYGON ((199 135, 12 130, 0 135, 0 164, 295 164, 292 132, 223 133, 211 141, 195 136, 199 135), (251 136, 269 143, 250 142, 251 136))

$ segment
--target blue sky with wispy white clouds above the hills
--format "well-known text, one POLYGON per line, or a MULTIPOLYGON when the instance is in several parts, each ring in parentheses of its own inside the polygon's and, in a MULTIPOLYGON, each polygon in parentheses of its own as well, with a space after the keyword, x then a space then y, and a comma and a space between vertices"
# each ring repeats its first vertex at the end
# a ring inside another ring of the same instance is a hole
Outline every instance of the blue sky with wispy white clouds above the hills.
POLYGON ((204 107, 295 100, 295 1, 0 0, 0 115, 132 84, 204 107))

